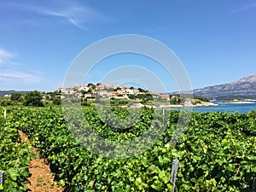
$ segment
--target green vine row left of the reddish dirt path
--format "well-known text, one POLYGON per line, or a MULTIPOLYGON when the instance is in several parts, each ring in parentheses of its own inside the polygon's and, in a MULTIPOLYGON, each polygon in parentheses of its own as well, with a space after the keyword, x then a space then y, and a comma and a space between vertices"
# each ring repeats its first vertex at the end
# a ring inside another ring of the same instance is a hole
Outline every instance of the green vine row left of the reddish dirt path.
MULTIPOLYGON (((1 111, 3 108, 0 108, 1 111)), ((6 119, 0 114, 0 170, 4 171, 3 186, 0 191, 26 191, 27 178, 31 176, 27 166, 35 157, 32 146, 20 143, 17 124, 8 110, 6 119)))

